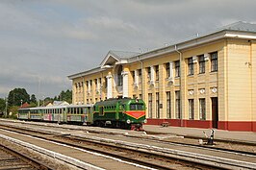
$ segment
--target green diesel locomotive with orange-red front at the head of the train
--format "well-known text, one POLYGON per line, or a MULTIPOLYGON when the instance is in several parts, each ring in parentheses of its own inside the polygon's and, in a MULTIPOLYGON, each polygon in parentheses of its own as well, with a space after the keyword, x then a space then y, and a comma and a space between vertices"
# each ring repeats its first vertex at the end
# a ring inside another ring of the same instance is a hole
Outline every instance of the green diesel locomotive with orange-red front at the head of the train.
POLYGON ((93 124, 100 127, 141 130, 146 123, 141 99, 108 99, 93 106, 93 124))

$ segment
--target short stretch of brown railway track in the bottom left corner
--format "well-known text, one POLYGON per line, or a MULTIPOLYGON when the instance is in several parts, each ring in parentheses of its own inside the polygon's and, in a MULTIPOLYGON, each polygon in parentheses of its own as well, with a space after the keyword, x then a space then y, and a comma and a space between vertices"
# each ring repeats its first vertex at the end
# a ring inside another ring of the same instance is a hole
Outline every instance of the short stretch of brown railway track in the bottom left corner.
POLYGON ((13 150, 12 147, 5 145, 3 142, 0 143, 0 169, 5 170, 50 170, 51 167, 44 163, 30 158, 20 152, 13 150))

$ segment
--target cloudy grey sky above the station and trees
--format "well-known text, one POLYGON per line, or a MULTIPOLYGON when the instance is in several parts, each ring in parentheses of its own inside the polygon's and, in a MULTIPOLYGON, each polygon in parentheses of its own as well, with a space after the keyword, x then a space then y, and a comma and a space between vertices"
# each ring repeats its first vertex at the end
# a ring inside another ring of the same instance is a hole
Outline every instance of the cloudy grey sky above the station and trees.
POLYGON ((245 21, 255 0, 0 0, 0 98, 71 89, 110 50, 141 52, 245 21))

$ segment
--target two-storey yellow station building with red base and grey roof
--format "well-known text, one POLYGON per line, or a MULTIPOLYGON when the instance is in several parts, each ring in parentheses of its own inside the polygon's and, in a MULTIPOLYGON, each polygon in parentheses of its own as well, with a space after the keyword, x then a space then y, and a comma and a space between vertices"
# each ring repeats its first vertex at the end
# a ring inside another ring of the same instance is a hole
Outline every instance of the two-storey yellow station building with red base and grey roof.
POLYGON ((141 98, 150 125, 256 132, 256 24, 145 53, 109 51, 98 67, 68 78, 75 105, 141 98))

